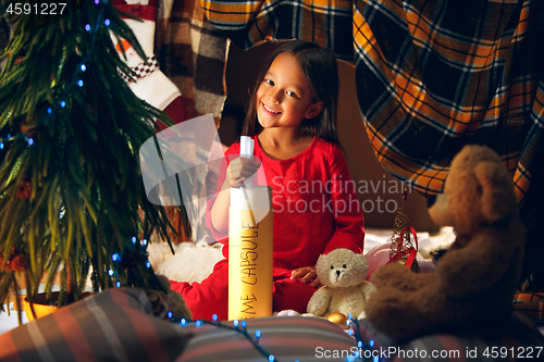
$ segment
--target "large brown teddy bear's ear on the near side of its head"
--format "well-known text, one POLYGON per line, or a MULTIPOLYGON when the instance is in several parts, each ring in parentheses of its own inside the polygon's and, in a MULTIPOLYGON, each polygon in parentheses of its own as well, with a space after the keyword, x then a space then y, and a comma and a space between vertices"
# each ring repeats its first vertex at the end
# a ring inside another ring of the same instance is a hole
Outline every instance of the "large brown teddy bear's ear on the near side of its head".
POLYGON ((482 215, 491 224, 503 221, 516 210, 511 179, 503 164, 483 161, 474 167, 474 176, 482 188, 482 215))

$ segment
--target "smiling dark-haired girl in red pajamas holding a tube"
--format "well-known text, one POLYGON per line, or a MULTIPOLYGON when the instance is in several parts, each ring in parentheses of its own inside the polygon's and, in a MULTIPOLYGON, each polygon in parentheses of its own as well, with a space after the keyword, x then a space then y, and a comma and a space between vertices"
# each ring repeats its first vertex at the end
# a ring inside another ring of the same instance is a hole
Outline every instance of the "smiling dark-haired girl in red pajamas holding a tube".
MULTIPOLYGON (((362 252, 362 213, 336 136, 337 93, 334 53, 299 40, 269 55, 252 92, 243 132, 254 138, 254 154, 273 188, 274 311, 306 312, 320 285, 314 265, 321 253, 362 252)), ((202 283, 172 282, 195 320, 227 319, 228 188, 260 166, 239 158, 239 143, 226 150, 225 160, 207 225, 225 242, 226 259, 202 283)))

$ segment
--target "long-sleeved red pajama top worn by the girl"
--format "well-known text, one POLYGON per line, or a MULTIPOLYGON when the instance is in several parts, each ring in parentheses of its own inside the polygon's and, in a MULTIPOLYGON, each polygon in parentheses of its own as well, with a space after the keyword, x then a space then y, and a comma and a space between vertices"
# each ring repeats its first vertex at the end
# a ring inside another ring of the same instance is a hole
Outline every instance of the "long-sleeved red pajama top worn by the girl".
MULTIPOLYGON (((218 192, 230 161, 239 155, 239 147, 234 143, 225 151, 218 192)), ((255 137, 254 155, 261 160, 267 185, 273 189, 275 267, 313 266, 321 253, 337 248, 362 252, 361 207, 338 146, 314 137, 304 152, 287 160, 272 160, 255 137)), ((257 184, 264 185, 262 173, 258 172, 257 176, 257 184)), ((215 240, 226 242, 223 255, 228 258, 227 235, 219 233, 211 224, 214 201, 215 197, 207 204, 206 224, 215 240)))

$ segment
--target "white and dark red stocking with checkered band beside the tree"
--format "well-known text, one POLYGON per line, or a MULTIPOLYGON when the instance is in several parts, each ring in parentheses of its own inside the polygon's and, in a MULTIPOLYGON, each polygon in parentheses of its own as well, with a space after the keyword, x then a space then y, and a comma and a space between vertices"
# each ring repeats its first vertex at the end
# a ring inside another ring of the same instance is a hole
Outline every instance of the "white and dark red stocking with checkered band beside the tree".
MULTIPOLYGON (((174 123, 185 121, 187 111, 182 92, 159 70, 159 62, 154 57, 153 47, 158 0, 113 0, 113 5, 141 20, 137 21, 122 16, 147 55, 145 62, 127 40, 121 39, 118 41, 112 36, 115 49, 120 53, 121 59, 124 60, 126 58, 126 64, 136 73, 136 76, 133 76, 136 82, 125 75, 122 75, 122 77, 138 98, 164 111, 174 123), (125 57, 123 57, 123 52, 125 57)), ((158 126, 161 130, 166 128, 160 122, 158 122, 158 126)))

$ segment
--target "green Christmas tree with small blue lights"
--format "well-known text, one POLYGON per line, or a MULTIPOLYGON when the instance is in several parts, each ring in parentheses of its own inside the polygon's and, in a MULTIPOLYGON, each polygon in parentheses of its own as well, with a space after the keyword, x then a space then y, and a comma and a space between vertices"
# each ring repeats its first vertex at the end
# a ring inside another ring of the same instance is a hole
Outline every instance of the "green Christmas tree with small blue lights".
POLYGON ((2 304, 21 304, 22 288, 32 303, 40 284, 51 295, 55 277, 59 305, 88 275, 95 291, 160 288, 146 240, 168 239, 170 224, 146 199, 138 150, 156 121, 172 123, 122 79, 134 72, 112 38, 146 57, 108 0, 62 1, 0 5, 13 28, 0 74, 2 304))

